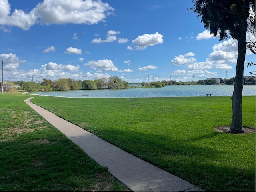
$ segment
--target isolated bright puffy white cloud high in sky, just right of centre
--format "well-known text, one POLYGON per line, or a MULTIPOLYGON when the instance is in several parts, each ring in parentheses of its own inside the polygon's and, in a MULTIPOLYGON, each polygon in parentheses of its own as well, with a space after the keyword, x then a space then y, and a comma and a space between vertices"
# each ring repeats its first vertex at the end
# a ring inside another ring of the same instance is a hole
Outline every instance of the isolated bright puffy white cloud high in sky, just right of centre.
POLYGON ((144 50, 148 46, 161 44, 163 42, 163 35, 159 34, 158 32, 155 34, 144 34, 142 36, 140 35, 135 40, 132 40, 132 43, 137 50, 144 50))

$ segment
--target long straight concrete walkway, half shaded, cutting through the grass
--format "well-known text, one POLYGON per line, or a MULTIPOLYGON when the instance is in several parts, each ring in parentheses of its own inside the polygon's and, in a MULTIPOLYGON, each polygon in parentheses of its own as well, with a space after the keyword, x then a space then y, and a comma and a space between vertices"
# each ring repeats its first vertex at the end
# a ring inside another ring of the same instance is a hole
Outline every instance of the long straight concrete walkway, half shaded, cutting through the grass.
MULTIPOLYGON (((33 97, 31 97, 33 98, 33 97)), ((128 152, 102 140, 86 130, 56 116, 55 114, 24 100, 70 140, 77 144, 98 164, 132 191, 203 191, 177 176, 174 176, 128 152)))

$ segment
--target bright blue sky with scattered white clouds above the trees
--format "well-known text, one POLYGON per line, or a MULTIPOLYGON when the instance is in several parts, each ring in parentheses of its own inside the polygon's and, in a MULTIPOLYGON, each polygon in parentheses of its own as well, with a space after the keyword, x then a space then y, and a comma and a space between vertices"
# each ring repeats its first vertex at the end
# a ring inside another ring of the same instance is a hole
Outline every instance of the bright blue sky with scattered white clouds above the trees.
MULTIPOLYGON (((192 6, 191 0, 0 0, 3 79, 234 77, 238 42, 213 37, 192 6)), ((255 63, 250 50, 248 62, 255 63)), ((252 71, 245 64, 244 76, 252 71)))

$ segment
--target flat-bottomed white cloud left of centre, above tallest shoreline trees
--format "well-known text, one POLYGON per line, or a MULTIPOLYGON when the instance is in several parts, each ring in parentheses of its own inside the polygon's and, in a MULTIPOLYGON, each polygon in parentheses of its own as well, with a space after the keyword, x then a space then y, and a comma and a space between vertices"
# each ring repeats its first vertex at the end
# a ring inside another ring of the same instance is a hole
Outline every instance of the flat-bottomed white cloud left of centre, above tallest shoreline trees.
POLYGON ((90 66, 92 69, 100 71, 118 71, 114 63, 108 59, 98 61, 90 60, 88 63, 85 63, 84 66, 90 66))

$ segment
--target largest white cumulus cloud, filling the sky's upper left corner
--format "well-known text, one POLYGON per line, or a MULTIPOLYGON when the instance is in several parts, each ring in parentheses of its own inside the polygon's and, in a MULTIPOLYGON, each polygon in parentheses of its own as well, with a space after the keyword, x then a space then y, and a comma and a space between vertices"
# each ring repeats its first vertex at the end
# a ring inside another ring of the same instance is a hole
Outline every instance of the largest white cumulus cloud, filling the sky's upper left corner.
POLYGON ((11 13, 8 0, 1 0, 0 6, 0 25, 16 26, 23 30, 36 23, 97 24, 114 11, 108 3, 95 0, 44 0, 29 13, 17 9, 11 13))

